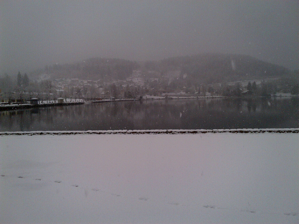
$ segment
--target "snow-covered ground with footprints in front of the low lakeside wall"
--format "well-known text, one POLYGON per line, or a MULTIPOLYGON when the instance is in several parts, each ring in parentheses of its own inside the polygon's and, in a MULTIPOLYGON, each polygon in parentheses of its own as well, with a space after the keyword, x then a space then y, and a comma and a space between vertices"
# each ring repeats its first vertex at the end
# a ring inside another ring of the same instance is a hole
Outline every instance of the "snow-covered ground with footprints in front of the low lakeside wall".
POLYGON ((298 223, 299 134, 0 136, 0 223, 298 223))

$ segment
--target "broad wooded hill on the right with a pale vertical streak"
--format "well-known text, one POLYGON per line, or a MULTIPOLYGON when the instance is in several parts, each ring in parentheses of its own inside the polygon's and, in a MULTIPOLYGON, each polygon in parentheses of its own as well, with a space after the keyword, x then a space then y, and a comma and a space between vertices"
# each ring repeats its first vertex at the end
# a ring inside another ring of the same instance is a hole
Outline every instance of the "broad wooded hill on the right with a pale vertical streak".
POLYGON ((202 83, 280 78, 291 74, 283 66, 237 54, 199 54, 168 58, 161 61, 161 67, 180 70, 186 77, 202 83))

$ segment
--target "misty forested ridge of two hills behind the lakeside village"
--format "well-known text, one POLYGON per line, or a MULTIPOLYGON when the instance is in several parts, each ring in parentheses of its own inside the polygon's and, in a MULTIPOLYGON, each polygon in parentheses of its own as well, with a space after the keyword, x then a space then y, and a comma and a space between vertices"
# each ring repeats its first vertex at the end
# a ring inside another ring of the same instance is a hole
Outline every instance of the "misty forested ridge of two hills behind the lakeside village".
MULTIPOLYGON (((189 79, 197 83, 233 82, 251 79, 290 77, 286 67, 240 54, 205 53, 178 56, 159 61, 90 58, 73 64, 54 64, 38 70, 33 76, 77 78, 113 82, 136 75, 145 79, 167 77, 189 79)), ((297 77, 298 78, 298 77, 297 77)))

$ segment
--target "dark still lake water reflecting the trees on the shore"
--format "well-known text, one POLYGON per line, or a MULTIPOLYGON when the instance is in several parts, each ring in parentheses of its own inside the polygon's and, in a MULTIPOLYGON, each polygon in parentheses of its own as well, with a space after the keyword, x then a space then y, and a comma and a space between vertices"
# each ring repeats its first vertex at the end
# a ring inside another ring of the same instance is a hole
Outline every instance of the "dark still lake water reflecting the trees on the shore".
POLYGON ((298 98, 165 99, 0 112, 0 131, 298 128, 298 98))

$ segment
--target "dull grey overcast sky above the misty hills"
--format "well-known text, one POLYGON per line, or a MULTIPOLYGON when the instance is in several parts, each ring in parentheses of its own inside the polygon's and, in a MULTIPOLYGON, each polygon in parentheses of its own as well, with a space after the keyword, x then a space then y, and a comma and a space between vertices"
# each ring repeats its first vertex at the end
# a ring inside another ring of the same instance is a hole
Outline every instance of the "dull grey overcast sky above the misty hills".
POLYGON ((299 1, 0 1, 0 73, 91 57, 248 54, 299 67, 299 1))

